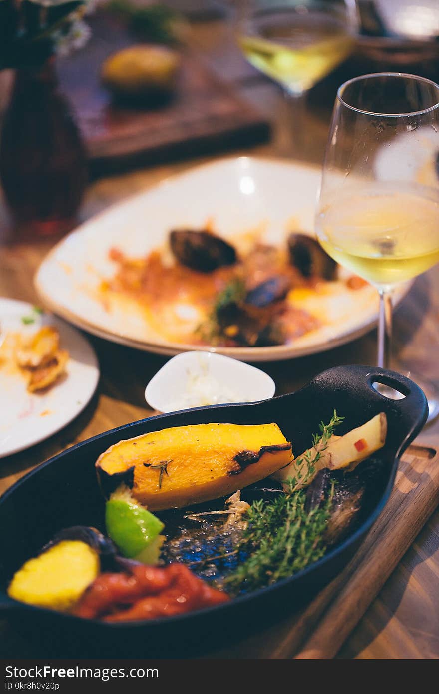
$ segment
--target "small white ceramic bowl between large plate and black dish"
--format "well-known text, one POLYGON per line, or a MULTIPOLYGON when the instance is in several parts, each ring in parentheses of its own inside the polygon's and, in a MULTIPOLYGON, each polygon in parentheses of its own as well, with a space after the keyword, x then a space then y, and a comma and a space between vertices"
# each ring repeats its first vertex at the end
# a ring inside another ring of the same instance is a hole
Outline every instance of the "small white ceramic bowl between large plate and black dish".
POLYGON ((255 366, 213 352, 184 352, 157 371, 146 386, 145 399, 159 412, 176 412, 201 405, 268 400, 275 389, 273 378, 255 366))

